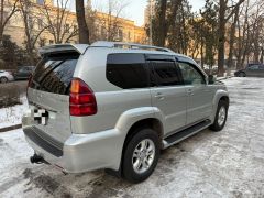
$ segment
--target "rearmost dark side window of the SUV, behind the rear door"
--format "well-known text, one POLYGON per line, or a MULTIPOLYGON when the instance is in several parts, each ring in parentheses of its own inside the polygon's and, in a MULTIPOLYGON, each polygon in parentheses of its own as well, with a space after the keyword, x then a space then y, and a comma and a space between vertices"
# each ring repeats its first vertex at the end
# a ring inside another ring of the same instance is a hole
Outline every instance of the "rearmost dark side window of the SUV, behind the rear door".
POLYGON ((123 89, 145 88, 147 73, 143 54, 110 54, 107 59, 107 79, 123 89))

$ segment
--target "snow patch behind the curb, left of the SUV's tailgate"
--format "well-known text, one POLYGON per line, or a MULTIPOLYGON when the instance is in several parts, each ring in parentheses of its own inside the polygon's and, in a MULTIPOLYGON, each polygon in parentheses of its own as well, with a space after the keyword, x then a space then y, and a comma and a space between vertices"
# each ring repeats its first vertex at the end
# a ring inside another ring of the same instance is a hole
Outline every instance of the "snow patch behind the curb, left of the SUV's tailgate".
POLYGON ((0 129, 21 123, 21 117, 29 108, 26 97, 21 97, 22 105, 0 109, 0 129))

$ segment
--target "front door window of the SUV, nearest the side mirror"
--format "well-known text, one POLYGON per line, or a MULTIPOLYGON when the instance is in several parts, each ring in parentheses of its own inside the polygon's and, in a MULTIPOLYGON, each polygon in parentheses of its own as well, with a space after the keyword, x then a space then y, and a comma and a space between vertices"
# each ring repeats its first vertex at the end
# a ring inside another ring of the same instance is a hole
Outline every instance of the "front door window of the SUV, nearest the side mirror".
POLYGON ((185 85, 206 84, 205 77, 189 63, 178 63, 185 85))

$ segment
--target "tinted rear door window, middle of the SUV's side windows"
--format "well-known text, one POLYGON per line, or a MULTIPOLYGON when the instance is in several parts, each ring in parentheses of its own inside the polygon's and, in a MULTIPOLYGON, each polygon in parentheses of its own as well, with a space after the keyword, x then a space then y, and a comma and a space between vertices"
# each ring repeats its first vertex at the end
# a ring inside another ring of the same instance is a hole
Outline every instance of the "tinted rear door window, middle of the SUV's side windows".
POLYGON ((169 61, 152 61, 153 79, 152 81, 158 86, 180 85, 178 70, 175 62, 169 61))

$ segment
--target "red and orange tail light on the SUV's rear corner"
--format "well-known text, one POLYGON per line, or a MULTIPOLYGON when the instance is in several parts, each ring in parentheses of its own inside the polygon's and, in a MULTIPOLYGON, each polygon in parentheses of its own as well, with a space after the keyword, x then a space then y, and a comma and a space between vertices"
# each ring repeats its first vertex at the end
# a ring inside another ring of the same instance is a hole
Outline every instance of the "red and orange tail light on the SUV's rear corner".
POLYGON ((97 113, 97 101, 94 91, 79 78, 72 80, 69 94, 70 116, 84 117, 97 113))

